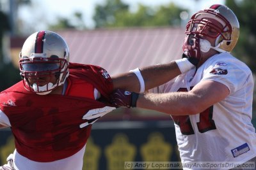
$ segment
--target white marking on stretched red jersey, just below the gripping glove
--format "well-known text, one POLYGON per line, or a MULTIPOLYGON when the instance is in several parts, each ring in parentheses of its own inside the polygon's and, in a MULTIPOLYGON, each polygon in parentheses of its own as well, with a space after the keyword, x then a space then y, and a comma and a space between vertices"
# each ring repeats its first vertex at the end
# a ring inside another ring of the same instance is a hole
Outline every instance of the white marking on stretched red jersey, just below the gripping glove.
POLYGON ((93 110, 89 110, 85 115, 83 116, 83 120, 87 120, 87 122, 80 125, 80 128, 86 127, 88 125, 93 124, 96 122, 100 117, 103 117, 107 113, 109 113, 112 110, 115 110, 115 107, 109 107, 105 106, 104 108, 97 108, 93 110))

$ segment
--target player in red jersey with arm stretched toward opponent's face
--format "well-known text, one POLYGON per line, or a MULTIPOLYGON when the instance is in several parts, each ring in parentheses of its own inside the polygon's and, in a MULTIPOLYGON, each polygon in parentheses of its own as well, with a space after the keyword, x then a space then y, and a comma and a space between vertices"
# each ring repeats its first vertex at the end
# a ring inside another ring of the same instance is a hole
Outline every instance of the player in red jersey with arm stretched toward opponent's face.
POLYGON ((114 89, 144 92, 195 67, 180 59, 111 78, 102 67, 68 62, 67 43, 51 31, 29 36, 19 57, 22 81, 0 93, 0 127, 11 127, 16 148, 0 169, 81 170, 92 124, 115 109, 114 89))

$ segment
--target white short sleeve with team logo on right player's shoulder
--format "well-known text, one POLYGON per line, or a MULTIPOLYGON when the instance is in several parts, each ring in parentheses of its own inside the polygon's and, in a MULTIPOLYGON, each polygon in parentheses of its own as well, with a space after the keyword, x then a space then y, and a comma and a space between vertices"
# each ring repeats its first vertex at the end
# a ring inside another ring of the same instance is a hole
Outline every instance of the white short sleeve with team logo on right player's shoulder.
POLYGON ((247 81, 250 70, 244 64, 234 62, 215 62, 204 71, 202 80, 218 81, 230 91, 236 92, 247 81))

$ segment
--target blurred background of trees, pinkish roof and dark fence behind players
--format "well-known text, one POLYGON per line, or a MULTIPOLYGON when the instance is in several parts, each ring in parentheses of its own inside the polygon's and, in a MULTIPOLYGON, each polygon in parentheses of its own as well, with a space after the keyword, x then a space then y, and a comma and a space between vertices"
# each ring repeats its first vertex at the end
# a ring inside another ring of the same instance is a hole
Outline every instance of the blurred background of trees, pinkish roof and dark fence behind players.
MULTIPOLYGON (((204 0, 0 0, 0 90, 20 81, 19 52, 36 31, 58 32, 70 62, 104 67, 110 74, 179 59, 184 28, 204 0)), ((255 76, 256 1, 217 0, 236 13, 240 37, 232 54, 255 76)), ((255 99, 253 124, 256 125, 255 99)), ((0 131, 0 164, 14 149, 10 129, 0 131)), ((93 125, 84 169, 124 169, 125 161, 179 161, 170 117, 118 108, 93 125)))

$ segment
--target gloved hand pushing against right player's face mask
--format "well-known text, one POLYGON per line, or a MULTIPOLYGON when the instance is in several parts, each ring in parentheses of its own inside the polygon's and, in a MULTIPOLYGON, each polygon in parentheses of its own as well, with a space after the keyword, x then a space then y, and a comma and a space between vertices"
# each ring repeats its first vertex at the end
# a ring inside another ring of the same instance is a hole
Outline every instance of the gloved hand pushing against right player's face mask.
POLYGON ((200 50, 200 36, 187 34, 183 43, 183 52, 182 58, 186 57, 189 62, 197 66, 202 56, 200 50))

